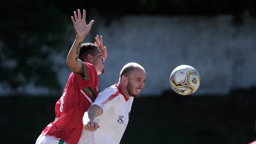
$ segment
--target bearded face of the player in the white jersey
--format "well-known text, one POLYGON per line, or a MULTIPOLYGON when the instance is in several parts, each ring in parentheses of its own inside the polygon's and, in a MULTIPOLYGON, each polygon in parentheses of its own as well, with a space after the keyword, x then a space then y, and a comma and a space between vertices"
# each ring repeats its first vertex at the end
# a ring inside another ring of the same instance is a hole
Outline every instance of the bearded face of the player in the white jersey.
POLYGON ((128 76, 127 91, 131 97, 138 98, 141 90, 145 85, 146 72, 142 69, 135 68, 128 76))

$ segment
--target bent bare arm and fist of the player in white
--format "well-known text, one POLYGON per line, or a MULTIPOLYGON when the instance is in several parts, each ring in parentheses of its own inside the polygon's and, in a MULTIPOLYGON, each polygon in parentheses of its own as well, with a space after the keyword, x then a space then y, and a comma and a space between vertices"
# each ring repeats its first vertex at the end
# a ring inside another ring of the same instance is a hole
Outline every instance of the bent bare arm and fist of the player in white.
POLYGON ((101 116, 103 110, 99 105, 91 105, 83 117, 84 129, 87 131, 96 131, 100 126, 94 122, 94 118, 101 116))

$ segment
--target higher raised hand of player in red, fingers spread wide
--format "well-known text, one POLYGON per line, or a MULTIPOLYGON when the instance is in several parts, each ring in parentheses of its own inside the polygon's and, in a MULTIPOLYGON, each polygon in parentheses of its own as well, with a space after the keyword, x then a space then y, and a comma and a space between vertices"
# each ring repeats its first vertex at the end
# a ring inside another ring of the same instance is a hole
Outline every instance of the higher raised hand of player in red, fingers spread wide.
POLYGON ((91 20, 90 23, 86 24, 86 12, 83 10, 83 16, 81 19, 81 12, 80 9, 77 10, 78 15, 74 11, 74 17, 71 16, 71 19, 74 23, 74 29, 78 36, 86 36, 92 27, 92 24, 94 23, 94 20, 91 20))

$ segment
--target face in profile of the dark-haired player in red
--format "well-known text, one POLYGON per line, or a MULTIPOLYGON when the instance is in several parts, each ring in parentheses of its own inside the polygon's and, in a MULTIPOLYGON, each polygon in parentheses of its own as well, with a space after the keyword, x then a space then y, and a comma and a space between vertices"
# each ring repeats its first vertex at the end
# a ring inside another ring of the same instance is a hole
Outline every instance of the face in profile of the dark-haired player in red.
POLYGON ((104 73, 104 61, 105 59, 101 57, 100 49, 96 48, 94 56, 92 57, 92 64, 94 65, 98 75, 104 73))

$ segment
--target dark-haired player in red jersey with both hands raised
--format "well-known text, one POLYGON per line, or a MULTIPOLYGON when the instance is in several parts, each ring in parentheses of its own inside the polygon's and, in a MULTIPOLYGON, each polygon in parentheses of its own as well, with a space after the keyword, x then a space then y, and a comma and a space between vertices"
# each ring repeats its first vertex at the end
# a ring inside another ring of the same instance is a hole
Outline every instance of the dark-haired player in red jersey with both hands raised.
POLYGON ((82 17, 80 10, 77 13, 74 11, 71 17, 77 35, 67 55, 72 72, 55 105, 56 118, 42 131, 36 144, 77 144, 83 130, 83 115, 98 94, 98 75, 104 72, 107 49, 98 35, 95 44, 82 44, 94 20, 87 25, 85 10, 82 17))

